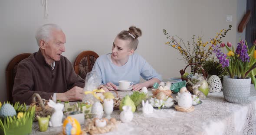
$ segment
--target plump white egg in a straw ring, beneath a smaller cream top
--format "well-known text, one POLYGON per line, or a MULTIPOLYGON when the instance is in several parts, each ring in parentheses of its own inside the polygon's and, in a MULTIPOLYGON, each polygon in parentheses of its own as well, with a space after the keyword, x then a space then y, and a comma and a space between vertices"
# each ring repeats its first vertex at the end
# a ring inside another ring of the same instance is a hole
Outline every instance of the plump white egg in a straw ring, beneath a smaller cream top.
POLYGON ((190 108, 192 106, 192 96, 189 92, 179 94, 178 106, 182 108, 190 108))

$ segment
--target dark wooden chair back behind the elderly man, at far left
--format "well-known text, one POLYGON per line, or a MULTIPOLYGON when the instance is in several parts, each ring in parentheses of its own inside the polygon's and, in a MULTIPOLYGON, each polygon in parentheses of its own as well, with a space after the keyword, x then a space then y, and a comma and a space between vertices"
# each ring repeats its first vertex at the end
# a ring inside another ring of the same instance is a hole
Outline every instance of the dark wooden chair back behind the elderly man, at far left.
POLYGON ((17 72, 18 64, 25 58, 28 58, 31 53, 23 53, 20 55, 15 56, 8 64, 5 75, 6 75, 6 86, 7 86, 7 100, 10 103, 13 102, 13 84, 14 78, 17 72))

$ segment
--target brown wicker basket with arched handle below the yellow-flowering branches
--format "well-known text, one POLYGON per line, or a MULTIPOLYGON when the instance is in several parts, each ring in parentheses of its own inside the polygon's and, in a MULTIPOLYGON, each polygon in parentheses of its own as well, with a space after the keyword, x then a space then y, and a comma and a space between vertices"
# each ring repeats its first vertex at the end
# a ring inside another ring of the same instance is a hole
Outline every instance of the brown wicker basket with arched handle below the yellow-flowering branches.
MULTIPOLYGON (((186 71, 187 67, 190 66, 190 65, 196 65, 196 66, 197 66, 197 68, 195 68, 195 70, 194 70, 194 74, 197 73, 198 69, 201 69, 201 72, 203 73, 203 77, 205 77, 205 78, 207 77, 207 74, 205 73, 203 67, 201 67, 201 66, 198 65, 198 64, 188 64, 188 65, 184 68, 184 70, 183 70, 183 69, 180 70, 181 79, 182 79, 182 80, 190 81, 187 77, 186 77, 186 78, 182 77, 183 74, 185 74, 185 71, 186 71)), ((190 93, 193 93, 193 89, 192 89, 193 84, 192 84, 192 83, 187 83, 186 87, 187 87, 187 90, 188 90, 190 93)))

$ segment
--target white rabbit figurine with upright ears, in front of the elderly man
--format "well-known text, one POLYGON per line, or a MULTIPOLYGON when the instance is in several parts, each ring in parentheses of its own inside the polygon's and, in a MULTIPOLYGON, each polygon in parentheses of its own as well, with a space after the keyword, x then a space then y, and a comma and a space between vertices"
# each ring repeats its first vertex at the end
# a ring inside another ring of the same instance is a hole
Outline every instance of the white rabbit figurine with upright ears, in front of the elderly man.
POLYGON ((55 103, 53 102, 53 100, 49 100, 47 104, 48 106, 55 109, 55 112, 53 113, 49 121, 49 126, 50 127, 62 126, 62 117, 63 117, 62 109, 64 108, 64 105, 62 103, 55 103))

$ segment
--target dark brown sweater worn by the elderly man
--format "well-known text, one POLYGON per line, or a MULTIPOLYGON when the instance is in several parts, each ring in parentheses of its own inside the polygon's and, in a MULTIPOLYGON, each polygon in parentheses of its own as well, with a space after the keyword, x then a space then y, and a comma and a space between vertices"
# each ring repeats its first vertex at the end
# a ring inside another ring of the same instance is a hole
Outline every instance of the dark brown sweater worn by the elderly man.
POLYGON ((53 93, 64 93, 74 86, 83 88, 85 80, 75 74, 70 61, 61 56, 60 61, 55 61, 52 70, 39 49, 18 64, 13 86, 13 101, 30 105, 34 93, 49 100, 53 93))

